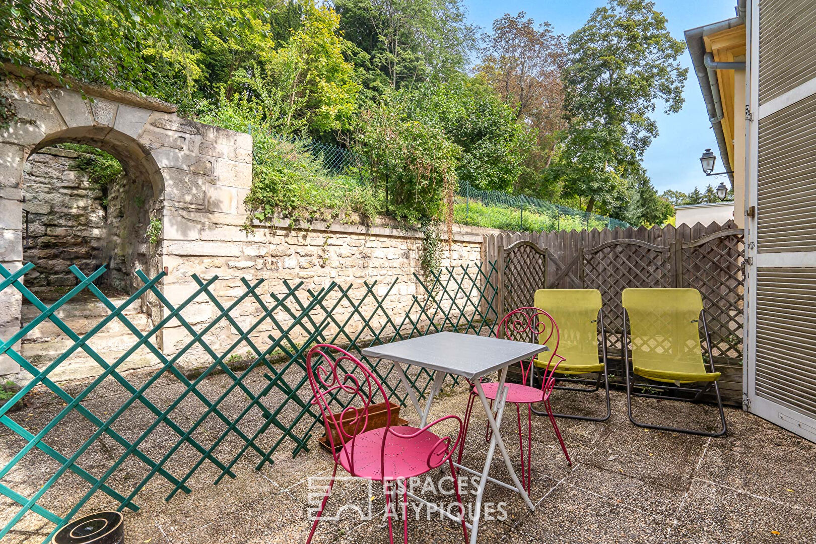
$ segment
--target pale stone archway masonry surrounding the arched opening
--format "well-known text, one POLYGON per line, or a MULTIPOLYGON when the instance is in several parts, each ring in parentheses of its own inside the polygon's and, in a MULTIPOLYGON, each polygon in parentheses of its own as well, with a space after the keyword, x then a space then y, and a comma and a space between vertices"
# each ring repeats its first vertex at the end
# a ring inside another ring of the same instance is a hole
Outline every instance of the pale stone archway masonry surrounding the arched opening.
MULTIPOLYGON (((17 118, 0 129, 0 263, 12 272, 23 264, 24 163, 54 144, 103 149, 125 170, 149 179, 154 213, 162 223, 149 250, 149 276, 166 269, 169 242, 178 248, 171 247, 171 255, 211 254, 200 240, 202 228, 242 221, 237 202, 251 184, 249 135, 177 117, 175 106, 161 100, 81 82, 70 82, 69 89, 33 69, 6 68, 16 75, 0 82, 0 95, 11 100, 17 118)), ((162 284, 169 299, 186 290, 168 291, 173 284, 162 284)), ((0 338, 20 328, 21 304, 16 290, 0 293, 0 338)), ((0 376, 19 371, 0 356, 0 376)))

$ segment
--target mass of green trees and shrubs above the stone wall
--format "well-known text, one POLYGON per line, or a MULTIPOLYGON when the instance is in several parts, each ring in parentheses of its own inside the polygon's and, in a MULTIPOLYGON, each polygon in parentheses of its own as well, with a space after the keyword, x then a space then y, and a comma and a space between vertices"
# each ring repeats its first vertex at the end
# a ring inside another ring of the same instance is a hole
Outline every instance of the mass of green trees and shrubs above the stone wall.
MULTIPOLYGON (((568 40, 523 11, 475 36, 462 0, 0 3, 3 61, 250 130, 255 219, 385 211, 436 232, 461 182, 663 220, 641 160, 657 104, 681 108, 685 70, 653 2, 611 0, 568 40), (360 150, 372 186, 322 170, 295 137, 360 150)), ((12 110, 0 102, 0 126, 12 110)))

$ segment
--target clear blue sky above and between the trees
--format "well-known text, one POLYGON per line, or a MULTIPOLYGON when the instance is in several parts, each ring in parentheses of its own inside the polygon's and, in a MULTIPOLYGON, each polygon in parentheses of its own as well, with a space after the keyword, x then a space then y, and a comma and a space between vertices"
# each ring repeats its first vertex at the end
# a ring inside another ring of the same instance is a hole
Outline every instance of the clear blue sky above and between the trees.
MULTIPOLYGON (((504 13, 516 15, 526 11, 528 17, 540 22, 548 20, 557 33, 569 35, 579 29, 596 7, 605 4, 603 0, 465 0, 472 24, 490 29, 493 20, 504 13)), ((668 29, 672 36, 683 40, 683 31, 703 24, 734 17, 736 0, 655 0, 656 9, 663 11, 668 19, 668 29)), ((681 56, 685 67, 691 68, 688 51, 681 56)), ((716 140, 707 121, 703 95, 697 84, 693 70, 683 91, 685 103, 680 113, 665 115, 661 104, 654 112, 660 135, 654 139, 645 153, 644 166, 649 171, 658 192, 666 189, 689 192, 695 185, 701 190, 714 178, 706 179, 700 169, 699 157, 703 149, 716 151, 716 140)), ((722 164, 716 151, 717 165, 722 164)), ((719 183, 719 179, 714 184, 719 183)))

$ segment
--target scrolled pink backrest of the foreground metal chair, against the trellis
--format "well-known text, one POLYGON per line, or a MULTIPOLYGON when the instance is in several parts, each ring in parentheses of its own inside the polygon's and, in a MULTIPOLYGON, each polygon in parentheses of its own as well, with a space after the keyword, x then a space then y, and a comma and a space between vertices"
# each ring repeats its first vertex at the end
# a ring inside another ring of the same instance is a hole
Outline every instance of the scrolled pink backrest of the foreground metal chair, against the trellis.
MULTIPOLYGON (((369 408, 376 404, 378 394, 381 401, 388 399, 382 384, 357 357, 331 344, 317 344, 309 350, 306 372, 314 393, 312 404, 320 408, 335 462, 340 462, 340 456, 344 455, 347 466, 354 467, 356 441, 352 439, 368 430, 369 408), (349 443, 352 447, 346 448, 349 443)), ((391 407, 385 403, 386 431, 380 448, 381 466, 384 465, 385 437, 390 427, 391 407)))

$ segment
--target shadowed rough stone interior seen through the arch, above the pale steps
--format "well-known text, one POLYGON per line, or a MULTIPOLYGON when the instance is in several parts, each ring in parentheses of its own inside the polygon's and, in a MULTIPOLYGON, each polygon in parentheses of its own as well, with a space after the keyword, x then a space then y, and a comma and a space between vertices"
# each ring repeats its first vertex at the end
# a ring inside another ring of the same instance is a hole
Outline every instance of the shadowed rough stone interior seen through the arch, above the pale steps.
POLYGON ((95 284, 109 297, 132 294, 141 285, 135 272, 153 268, 153 185, 111 153, 72 142, 38 148, 25 163, 22 192, 23 260, 36 265, 26 283, 42 300, 78 283, 71 265, 86 275, 104 265, 95 284))

